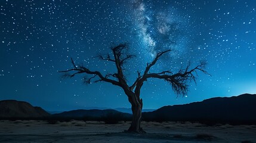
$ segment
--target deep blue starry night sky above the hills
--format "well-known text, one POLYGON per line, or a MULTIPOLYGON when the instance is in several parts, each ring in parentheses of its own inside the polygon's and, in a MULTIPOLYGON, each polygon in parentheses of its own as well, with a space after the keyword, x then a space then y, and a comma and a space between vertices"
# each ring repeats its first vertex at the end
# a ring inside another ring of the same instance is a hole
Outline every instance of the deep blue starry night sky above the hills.
POLYGON ((60 70, 77 64, 103 74, 115 66, 98 59, 128 42, 137 55, 125 66, 131 84, 159 51, 172 49, 152 72, 178 71, 207 61, 185 97, 164 80, 141 88, 144 108, 186 104, 212 97, 256 93, 255 0, 0 0, 0 100, 21 100, 47 111, 129 108, 110 83, 84 85, 60 70))

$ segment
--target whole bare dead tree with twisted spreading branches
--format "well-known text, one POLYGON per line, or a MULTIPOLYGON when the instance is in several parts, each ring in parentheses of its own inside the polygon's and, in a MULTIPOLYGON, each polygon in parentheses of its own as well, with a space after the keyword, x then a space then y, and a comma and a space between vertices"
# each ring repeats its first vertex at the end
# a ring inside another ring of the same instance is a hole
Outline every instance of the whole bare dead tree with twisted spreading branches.
POLYGON ((196 76, 198 74, 197 71, 202 71, 203 73, 208 74, 205 71, 205 62, 201 62, 198 66, 190 69, 190 64, 186 67, 186 69, 181 69, 177 73, 172 73, 171 70, 161 71, 160 73, 150 73, 149 70, 152 66, 156 64, 159 58, 167 52, 171 50, 166 50, 162 52, 158 52, 155 55, 155 58, 151 63, 147 63, 146 69, 144 73, 137 71, 137 79, 134 83, 129 86, 127 83, 127 79, 124 75, 124 64, 127 63, 131 58, 135 57, 135 55, 129 54, 128 49, 129 46, 127 43, 121 43, 117 46, 111 48, 113 55, 98 55, 101 60, 106 60, 109 62, 115 63, 116 73, 103 75, 100 71, 91 71, 87 67, 82 66, 81 64, 76 65, 73 59, 71 58, 73 69, 60 71, 64 72, 64 76, 73 77, 76 74, 90 74, 91 77, 85 78, 86 83, 96 83, 96 82, 109 82, 113 85, 120 86, 125 94, 128 97, 129 102, 131 103, 132 110, 132 122, 129 127, 129 132, 137 132, 144 133, 144 130, 141 128, 141 111, 143 107, 143 101, 140 98, 140 89, 143 86, 143 83, 149 78, 163 79, 165 82, 171 84, 173 91, 177 95, 186 95, 188 91, 188 82, 194 81, 196 82, 196 76))

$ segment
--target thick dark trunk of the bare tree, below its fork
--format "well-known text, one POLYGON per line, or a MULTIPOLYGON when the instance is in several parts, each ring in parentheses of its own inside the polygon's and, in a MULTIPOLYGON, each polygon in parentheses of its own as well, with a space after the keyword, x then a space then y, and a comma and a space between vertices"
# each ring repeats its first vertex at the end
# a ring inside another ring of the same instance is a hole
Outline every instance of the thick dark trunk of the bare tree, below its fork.
POLYGON ((134 96, 132 98, 129 98, 129 102, 131 102, 132 122, 131 126, 128 129, 128 132, 146 133, 140 126, 143 107, 142 99, 136 98, 134 96))

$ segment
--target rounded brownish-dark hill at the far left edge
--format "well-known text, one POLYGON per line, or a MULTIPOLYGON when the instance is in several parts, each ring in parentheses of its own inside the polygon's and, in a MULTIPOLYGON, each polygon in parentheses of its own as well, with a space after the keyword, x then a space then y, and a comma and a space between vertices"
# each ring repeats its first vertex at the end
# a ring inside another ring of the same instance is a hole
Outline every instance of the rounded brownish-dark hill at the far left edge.
POLYGON ((33 107, 28 102, 16 100, 0 101, 0 119, 39 118, 50 116, 41 107, 33 107))

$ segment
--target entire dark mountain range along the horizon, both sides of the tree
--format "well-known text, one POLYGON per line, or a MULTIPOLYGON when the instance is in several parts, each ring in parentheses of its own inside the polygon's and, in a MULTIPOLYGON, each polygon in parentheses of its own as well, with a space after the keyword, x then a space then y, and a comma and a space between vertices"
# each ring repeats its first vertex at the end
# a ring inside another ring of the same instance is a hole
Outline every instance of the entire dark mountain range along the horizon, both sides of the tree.
MULTIPOLYGON (((122 110, 130 110, 121 108, 122 110)), ((256 94, 243 94, 237 97, 215 97, 201 102, 184 105, 168 105, 155 111, 143 112, 143 120, 155 121, 220 121, 256 123, 256 94)), ((40 107, 33 107, 27 102, 16 100, 0 101, 0 119, 8 118, 72 118, 100 119, 102 117, 121 117, 131 119, 129 113, 112 109, 72 110, 58 114, 48 114, 40 107)))

